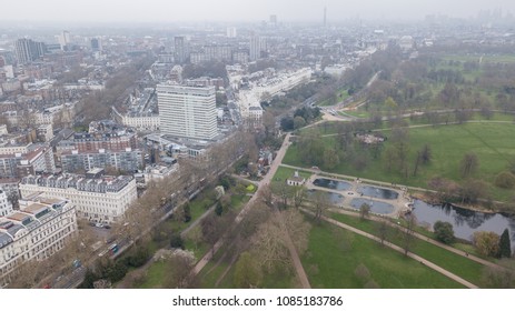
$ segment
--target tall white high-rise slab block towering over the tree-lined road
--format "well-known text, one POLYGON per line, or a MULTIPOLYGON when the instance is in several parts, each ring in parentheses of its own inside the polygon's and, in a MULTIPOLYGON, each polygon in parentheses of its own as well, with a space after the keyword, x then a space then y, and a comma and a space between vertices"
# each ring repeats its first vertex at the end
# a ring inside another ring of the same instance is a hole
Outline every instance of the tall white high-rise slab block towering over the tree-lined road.
POLYGON ((162 134, 212 140, 218 134, 215 87, 157 86, 162 134))

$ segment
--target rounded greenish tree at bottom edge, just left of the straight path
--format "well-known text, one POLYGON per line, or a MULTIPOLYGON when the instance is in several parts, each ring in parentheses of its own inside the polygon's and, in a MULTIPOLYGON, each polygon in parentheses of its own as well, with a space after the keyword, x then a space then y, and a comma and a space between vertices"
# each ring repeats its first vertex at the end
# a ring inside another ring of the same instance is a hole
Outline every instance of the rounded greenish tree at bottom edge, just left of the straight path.
POLYGON ((232 281, 238 289, 257 288, 263 273, 256 260, 249 252, 242 252, 236 262, 232 281))

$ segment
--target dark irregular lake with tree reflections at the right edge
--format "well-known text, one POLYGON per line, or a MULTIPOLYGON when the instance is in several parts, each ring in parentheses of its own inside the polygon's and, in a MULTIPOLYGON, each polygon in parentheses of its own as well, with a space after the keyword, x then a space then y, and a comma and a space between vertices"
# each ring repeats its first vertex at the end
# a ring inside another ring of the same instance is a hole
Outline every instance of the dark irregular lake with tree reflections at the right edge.
POLYGON ((432 205, 424 201, 415 200, 413 213, 420 224, 433 228, 436 221, 446 221, 453 224, 454 235, 472 241, 476 231, 493 231, 502 234, 508 229, 512 247, 515 247, 515 215, 505 213, 482 213, 453 205, 432 205))

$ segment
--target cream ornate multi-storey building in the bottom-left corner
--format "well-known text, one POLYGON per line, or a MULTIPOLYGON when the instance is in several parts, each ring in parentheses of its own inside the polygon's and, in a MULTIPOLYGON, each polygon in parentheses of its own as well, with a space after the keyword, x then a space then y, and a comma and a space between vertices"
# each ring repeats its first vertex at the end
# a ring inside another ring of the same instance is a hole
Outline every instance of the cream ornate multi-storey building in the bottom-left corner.
POLYGON ((76 209, 62 198, 20 201, 20 210, 0 217, 0 287, 27 260, 43 260, 62 249, 77 230, 76 209))

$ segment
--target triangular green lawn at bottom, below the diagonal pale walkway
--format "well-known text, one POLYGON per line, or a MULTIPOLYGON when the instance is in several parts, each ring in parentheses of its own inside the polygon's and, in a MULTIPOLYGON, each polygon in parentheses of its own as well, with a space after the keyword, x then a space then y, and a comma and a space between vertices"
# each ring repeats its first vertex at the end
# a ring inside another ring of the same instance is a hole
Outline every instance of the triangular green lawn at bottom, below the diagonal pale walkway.
POLYGON ((355 274, 359 264, 380 288, 463 288, 402 253, 327 223, 313 227, 309 249, 301 261, 313 288, 364 288, 368 281, 355 274), (340 245, 335 238, 338 231, 351 241, 350 247, 340 245))

